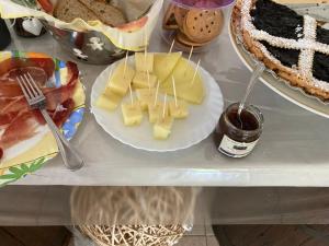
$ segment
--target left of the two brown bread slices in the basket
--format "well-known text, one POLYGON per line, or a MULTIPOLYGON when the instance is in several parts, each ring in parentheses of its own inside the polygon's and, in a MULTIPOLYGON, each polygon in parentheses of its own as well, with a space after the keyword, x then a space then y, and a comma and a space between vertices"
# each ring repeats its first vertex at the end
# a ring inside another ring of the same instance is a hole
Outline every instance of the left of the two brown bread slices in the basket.
POLYGON ((54 16, 64 22, 71 22, 77 17, 83 21, 99 20, 92 11, 78 0, 59 0, 56 4, 54 16))

